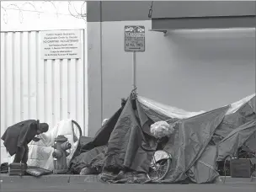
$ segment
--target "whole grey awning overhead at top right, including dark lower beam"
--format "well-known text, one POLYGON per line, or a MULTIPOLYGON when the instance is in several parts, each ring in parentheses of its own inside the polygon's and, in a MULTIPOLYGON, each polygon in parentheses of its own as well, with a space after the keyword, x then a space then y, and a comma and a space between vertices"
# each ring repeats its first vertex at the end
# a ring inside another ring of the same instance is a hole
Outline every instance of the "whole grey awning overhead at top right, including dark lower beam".
POLYGON ((256 27, 254 1, 152 2, 152 30, 256 27))

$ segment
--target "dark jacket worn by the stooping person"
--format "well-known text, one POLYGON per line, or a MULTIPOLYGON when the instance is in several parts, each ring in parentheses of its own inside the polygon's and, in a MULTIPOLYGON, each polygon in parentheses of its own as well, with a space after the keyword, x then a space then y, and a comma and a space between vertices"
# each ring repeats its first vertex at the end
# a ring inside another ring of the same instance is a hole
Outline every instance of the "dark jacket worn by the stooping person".
POLYGON ((3 145, 8 153, 13 156, 17 147, 29 144, 37 135, 38 122, 36 120, 24 120, 9 126, 2 136, 3 145))

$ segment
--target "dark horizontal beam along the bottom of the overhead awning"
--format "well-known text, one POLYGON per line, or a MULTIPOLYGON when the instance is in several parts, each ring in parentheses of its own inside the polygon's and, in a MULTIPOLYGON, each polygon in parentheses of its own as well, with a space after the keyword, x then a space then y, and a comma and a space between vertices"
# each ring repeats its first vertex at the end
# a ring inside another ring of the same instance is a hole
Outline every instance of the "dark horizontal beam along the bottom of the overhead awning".
POLYGON ((153 31, 172 29, 256 28, 255 15, 152 19, 153 31))

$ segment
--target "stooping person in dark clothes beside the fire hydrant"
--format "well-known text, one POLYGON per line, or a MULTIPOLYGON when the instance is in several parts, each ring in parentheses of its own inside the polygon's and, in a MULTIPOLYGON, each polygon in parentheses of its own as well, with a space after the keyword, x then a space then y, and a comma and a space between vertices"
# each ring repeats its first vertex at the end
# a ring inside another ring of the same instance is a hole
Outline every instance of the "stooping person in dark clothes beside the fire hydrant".
POLYGON ((24 120, 15 125, 9 126, 2 136, 3 145, 8 153, 14 157, 13 163, 28 162, 30 141, 40 141, 40 138, 35 136, 47 132, 49 125, 39 123, 39 120, 24 120))

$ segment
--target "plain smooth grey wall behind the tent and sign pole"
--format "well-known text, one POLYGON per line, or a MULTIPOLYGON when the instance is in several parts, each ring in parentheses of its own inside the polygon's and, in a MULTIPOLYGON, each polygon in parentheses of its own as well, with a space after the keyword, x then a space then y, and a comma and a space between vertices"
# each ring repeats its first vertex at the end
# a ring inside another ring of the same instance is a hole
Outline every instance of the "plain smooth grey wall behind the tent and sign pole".
MULTIPOLYGON (((189 111, 216 109, 255 93, 255 29, 150 31, 151 21, 102 24, 104 117, 132 88, 132 54, 125 25, 146 27, 146 51, 137 53, 141 96, 189 111)), ((100 127, 99 23, 88 23, 89 135, 100 127), (96 95, 96 96, 95 96, 96 95)))

